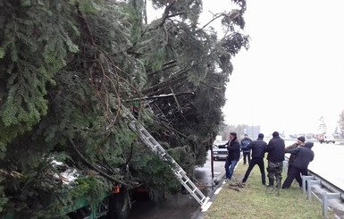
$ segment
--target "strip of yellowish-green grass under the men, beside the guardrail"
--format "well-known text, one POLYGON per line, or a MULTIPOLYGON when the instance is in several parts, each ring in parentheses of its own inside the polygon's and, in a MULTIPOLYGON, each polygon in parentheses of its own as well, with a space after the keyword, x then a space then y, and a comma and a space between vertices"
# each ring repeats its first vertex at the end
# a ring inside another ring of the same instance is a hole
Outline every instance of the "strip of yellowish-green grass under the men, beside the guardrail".
MULTIPOLYGON (((266 168, 265 164, 265 168, 266 168)), ((323 206, 317 198, 307 199, 307 195, 299 189, 294 181, 288 190, 267 190, 261 181, 261 174, 256 165, 248 177, 244 187, 236 186, 244 177, 248 165, 242 162, 236 167, 233 178, 223 185, 222 190, 208 209, 205 219, 240 219, 240 218, 278 218, 278 219, 302 219, 323 218, 323 206)), ((283 169, 282 182, 286 178, 287 171, 283 169)), ((266 174, 266 169, 265 169, 266 174)), ((266 181, 268 179, 266 178, 266 181)), ((329 211, 330 219, 336 218, 329 211)))

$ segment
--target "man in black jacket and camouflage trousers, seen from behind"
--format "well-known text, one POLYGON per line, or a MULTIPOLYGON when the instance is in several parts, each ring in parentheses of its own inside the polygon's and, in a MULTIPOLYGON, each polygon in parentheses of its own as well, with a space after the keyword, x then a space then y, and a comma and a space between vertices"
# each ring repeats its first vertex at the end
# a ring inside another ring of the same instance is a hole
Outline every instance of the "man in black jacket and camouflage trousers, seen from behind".
POLYGON ((266 147, 267 155, 267 177, 269 178, 269 187, 273 187, 276 180, 276 187, 281 189, 281 173, 284 161, 284 139, 281 139, 277 131, 273 131, 273 139, 269 141, 266 147))

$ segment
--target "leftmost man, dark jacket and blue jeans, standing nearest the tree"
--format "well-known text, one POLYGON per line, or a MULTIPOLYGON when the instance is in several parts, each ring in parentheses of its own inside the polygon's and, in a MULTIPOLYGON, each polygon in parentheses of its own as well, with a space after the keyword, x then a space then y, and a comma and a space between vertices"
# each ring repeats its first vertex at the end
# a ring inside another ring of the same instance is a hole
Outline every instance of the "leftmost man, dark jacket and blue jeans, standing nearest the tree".
POLYGON ((226 181, 230 181, 234 173, 234 168, 238 164, 240 158, 240 143, 237 139, 236 132, 230 133, 230 139, 225 146, 227 146, 228 156, 224 164, 224 169, 226 171, 226 181))

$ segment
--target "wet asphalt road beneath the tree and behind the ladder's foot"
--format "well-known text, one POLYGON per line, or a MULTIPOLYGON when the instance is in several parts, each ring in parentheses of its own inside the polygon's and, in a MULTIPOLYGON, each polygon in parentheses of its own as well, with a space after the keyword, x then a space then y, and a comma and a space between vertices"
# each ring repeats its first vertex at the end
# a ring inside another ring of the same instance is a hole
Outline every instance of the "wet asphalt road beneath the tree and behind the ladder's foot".
MULTIPOLYGON (((214 192, 214 179, 224 172, 224 161, 214 161, 213 178, 210 158, 209 152, 206 164, 195 170, 195 184, 208 197, 214 192)), ((132 205, 129 219, 195 219, 200 211, 199 204, 189 193, 176 195, 164 202, 142 198, 132 205)))

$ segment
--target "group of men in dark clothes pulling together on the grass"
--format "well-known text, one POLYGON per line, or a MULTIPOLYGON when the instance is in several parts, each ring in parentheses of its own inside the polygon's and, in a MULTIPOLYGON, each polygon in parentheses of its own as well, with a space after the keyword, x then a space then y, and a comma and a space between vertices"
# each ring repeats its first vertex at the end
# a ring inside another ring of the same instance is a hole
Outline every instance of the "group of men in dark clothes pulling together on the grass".
POLYGON ((308 164, 313 161, 315 153, 312 151, 314 146, 313 142, 305 142, 306 139, 303 136, 298 137, 297 142, 285 147, 284 139, 281 139, 280 134, 277 131, 273 131, 273 139, 269 140, 269 143, 264 141, 264 134, 260 133, 256 140, 251 140, 248 135, 245 134, 244 138, 239 141, 236 132, 230 133, 230 138, 225 144, 228 150, 228 156, 224 169, 226 171, 226 181, 231 181, 231 177, 234 173, 234 168, 239 162, 240 151, 243 152, 243 163, 248 163, 248 170, 245 173, 242 183, 248 180, 248 176, 251 173, 253 167, 257 164, 262 175, 262 184, 266 185, 265 171, 264 171, 264 155, 267 153, 268 166, 267 177, 269 187, 276 186, 278 189, 288 189, 296 179, 298 185, 302 187, 301 175, 307 174, 308 164), (252 155, 251 155, 252 151, 252 155), (289 153, 289 165, 287 178, 281 185, 283 161, 285 153, 289 153), (251 158, 252 157, 252 158, 251 158), (276 182, 276 184, 274 184, 276 182))

